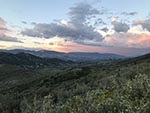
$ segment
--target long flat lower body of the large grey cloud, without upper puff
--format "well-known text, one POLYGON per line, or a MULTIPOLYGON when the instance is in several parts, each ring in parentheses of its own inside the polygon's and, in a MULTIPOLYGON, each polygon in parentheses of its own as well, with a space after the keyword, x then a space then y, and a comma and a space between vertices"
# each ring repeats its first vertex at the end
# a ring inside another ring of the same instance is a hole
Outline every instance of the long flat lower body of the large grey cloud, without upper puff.
POLYGON ((54 36, 62 37, 67 40, 99 40, 102 36, 94 31, 93 27, 82 25, 80 27, 70 28, 66 25, 57 23, 51 24, 36 24, 33 29, 26 29, 22 32, 23 35, 32 37, 51 38, 54 36))

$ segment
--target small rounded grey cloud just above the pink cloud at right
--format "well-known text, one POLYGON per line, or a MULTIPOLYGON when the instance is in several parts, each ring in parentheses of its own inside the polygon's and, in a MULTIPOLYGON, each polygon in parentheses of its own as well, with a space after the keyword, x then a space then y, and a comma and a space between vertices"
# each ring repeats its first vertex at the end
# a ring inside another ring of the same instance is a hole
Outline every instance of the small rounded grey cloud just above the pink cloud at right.
POLYGON ((112 24, 116 32, 127 32, 129 30, 129 26, 126 23, 114 21, 112 24))

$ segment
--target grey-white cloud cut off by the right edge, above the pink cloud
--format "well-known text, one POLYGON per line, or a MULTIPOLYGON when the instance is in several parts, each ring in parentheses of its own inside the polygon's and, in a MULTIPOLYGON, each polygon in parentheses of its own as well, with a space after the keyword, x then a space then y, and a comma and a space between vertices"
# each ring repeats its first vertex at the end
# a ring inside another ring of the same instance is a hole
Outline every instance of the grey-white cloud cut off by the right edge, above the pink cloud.
POLYGON ((150 18, 136 19, 133 21, 133 25, 141 25, 143 29, 146 29, 150 32, 150 18))

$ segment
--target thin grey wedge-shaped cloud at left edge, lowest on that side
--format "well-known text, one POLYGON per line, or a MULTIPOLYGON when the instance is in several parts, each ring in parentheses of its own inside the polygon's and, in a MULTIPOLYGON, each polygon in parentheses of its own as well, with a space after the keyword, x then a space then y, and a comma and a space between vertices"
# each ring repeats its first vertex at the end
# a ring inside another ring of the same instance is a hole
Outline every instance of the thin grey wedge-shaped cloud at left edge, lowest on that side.
POLYGON ((0 34, 0 41, 23 43, 22 41, 18 40, 15 37, 6 36, 4 34, 0 34))

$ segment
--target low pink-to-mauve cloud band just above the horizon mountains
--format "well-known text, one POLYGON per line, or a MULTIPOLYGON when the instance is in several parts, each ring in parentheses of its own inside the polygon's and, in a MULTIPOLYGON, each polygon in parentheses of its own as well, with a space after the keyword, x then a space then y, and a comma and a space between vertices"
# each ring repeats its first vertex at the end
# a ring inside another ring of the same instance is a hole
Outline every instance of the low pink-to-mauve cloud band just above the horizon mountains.
MULTIPOLYGON (((55 51, 61 52, 99 52, 99 53, 116 53, 126 56, 141 55, 148 52, 148 48, 133 48, 133 47, 103 47, 90 46, 67 41, 59 43, 61 46, 52 48, 55 51)), ((48 48, 46 48, 48 49, 48 48)))

